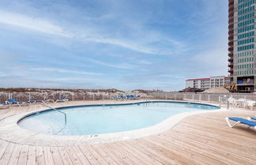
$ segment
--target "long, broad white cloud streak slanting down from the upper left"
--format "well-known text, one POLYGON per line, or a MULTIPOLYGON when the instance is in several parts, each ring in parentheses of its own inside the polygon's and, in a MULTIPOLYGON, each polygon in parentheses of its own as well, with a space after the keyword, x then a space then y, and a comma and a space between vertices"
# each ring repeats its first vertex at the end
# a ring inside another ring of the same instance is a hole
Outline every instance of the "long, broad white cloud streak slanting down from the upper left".
POLYGON ((27 29, 28 31, 61 36, 65 37, 66 39, 76 39, 80 42, 105 43, 115 45, 145 54, 170 55, 179 51, 183 51, 185 47, 183 43, 180 43, 175 39, 168 39, 165 36, 161 36, 160 34, 157 34, 155 32, 147 33, 141 30, 140 32, 138 32, 137 38, 134 39, 126 39, 123 37, 115 36, 109 37, 109 34, 100 32, 100 28, 103 27, 99 27, 97 24, 93 24, 90 27, 86 25, 79 27, 77 26, 77 24, 73 24, 62 28, 62 25, 58 25, 60 24, 59 22, 58 24, 55 24, 53 23, 53 21, 50 21, 50 19, 42 17, 31 17, 25 14, 12 13, 3 10, 0 10, 0 24, 8 24, 15 27, 27 29), (168 43, 170 47, 175 48, 164 50, 163 48, 157 48, 154 46, 154 44, 149 43, 163 41, 165 43, 168 43))

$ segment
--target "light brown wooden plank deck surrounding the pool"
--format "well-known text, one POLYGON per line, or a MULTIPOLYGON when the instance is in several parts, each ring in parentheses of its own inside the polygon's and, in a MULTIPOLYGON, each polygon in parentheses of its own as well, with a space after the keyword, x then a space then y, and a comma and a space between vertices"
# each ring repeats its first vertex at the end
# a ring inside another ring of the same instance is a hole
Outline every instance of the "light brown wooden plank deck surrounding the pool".
MULTIPOLYGON (((36 108, 42 107, 2 109, 0 119, 36 108)), ((108 144, 47 147, 0 140, 0 164, 256 164, 256 131, 247 126, 229 128, 224 120, 227 116, 246 118, 255 114, 197 114, 164 133, 108 144)))

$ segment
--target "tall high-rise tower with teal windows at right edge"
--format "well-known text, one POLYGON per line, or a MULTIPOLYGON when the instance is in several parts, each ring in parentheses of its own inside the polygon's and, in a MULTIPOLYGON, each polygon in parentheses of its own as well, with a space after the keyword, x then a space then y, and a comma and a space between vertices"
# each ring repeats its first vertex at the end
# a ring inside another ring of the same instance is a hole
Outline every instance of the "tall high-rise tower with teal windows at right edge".
POLYGON ((256 0, 228 0, 228 73, 238 92, 256 92, 256 0))

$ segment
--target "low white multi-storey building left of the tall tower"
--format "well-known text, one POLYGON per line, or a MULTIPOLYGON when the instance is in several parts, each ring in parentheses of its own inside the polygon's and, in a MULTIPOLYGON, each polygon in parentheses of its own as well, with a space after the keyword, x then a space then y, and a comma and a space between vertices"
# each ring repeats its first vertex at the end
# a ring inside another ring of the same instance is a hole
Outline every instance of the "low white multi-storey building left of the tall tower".
POLYGON ((185 88, 199 88, 199 89, 209 89, 223 86, 230 82, 229 77, 217 76, 209 78, 198 78, 198 79, 188 79, 186 80, 185 88))

